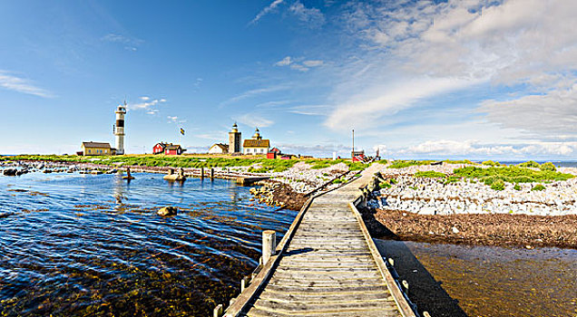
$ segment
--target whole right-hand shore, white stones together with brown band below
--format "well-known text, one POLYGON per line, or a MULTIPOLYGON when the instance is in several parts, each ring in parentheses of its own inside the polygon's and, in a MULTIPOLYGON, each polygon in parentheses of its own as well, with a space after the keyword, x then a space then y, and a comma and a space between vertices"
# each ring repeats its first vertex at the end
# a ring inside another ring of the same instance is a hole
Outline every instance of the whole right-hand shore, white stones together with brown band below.
MULTIPOLYGON (((444 182, 419 171, 451 175, 463 165, 383 168, 387 186, 362 211, 371 234, 395 240, 577 249, 577 178, 505 184, 494 190, 474 179, 444 182), (391 179, 394 179, 391 181, 391 179)), ((577 175, 575 168, 563 172, 577 175)))

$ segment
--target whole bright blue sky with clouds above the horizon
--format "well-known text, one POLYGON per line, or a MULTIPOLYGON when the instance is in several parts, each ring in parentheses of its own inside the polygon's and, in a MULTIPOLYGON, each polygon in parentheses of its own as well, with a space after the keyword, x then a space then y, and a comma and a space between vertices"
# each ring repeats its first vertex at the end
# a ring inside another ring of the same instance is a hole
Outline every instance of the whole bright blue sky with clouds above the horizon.
POLYGON ((0 4, 0 153, 191 152, 237 121, 288 152, 577 159, 577 3, 0 4), (187 131, 180 136, 182 127, 187 131))

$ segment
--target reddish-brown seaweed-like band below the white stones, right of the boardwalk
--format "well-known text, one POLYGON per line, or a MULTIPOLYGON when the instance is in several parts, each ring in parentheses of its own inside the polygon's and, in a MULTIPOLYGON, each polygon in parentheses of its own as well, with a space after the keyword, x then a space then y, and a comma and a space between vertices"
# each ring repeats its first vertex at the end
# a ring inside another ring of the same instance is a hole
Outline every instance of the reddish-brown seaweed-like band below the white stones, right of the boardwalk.
POLYGON ((455 245, 577 249, 577 215, 417 215, 371 208, 363 210, 362 215, 371 235, 377 238, 455 245))

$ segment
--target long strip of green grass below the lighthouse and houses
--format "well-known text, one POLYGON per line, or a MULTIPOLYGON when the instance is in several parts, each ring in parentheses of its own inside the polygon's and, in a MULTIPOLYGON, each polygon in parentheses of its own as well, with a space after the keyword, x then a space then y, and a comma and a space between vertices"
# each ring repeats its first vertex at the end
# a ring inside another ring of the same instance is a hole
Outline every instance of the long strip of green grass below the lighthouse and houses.
MULTIPOLYGON (((292 168, 299 159, 229 159, 229 158, 201 158, 191 156, 109 156, 109 157, 79 157, 75 155, 20 155, 15 157, 1 157, 0 160, 46 160, 56 162, 81 162, 94 163, 109 166, 142 166, 142 167, 172 167, 172 168, 233 168, 249 167, 258 165, 259 167, 249 168, 249 172, 266 173, 282 172, 292 168), (98 159, 98 160, 96 160, 98 159)), ((311 168, 328 168, 338 163, 345 163, 349 170, 363 170, 367 164, 351 162, 349 160, 337 159, 306 159, 304 160, 311 168)))

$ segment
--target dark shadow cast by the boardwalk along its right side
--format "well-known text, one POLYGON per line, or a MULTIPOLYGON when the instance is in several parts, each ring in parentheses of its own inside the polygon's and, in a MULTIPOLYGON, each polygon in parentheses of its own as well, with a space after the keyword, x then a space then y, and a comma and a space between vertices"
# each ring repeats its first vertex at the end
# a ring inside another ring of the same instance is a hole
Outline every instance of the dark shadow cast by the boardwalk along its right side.
POLYGON ((419 313, 429 312, 435 317, 467 317, 458 302, 435 281, 411 250, 386 226, 381 225, 368 210, 361 211, 368 230, 374 237, 391 239, 376 240, 381 255, 395 260, 400 279, 409 283, 409 298, 416 303, 419 313))

